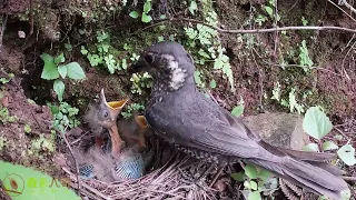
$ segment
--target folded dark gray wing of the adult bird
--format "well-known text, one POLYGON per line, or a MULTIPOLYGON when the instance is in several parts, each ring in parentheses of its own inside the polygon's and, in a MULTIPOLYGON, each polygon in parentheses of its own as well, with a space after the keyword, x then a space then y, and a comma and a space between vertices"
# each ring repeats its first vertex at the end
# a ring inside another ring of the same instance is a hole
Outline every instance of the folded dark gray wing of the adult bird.
POLYGON ((146 118, 152 129, 174 143, 239 158, 260 157, 263 148, 248 136, 249 130, 241 123, 231 126, 224 109, 202 98, 155 106, 146 118))

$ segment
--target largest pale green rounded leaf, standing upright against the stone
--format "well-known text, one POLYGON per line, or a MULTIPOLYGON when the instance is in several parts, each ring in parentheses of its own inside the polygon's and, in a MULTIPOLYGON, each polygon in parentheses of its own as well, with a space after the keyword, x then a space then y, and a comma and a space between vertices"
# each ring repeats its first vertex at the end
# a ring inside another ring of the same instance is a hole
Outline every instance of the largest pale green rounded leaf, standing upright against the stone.
POLYGON ((305 113, 303 129, 310 137, 322 139, 332 131, 333 123, 318 107, 312 107, 305 113))

